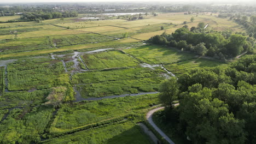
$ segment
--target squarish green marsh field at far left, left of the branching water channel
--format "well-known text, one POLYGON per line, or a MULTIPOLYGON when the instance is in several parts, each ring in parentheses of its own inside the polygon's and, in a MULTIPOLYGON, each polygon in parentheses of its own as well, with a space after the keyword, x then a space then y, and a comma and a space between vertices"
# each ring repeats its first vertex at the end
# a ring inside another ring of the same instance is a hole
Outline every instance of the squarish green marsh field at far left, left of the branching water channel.
POLYGON ((62 74, 62 62, 48 58, 21 59, 9 64, 7 71, 9 91, 51 88, 68 82, 68 75, 62 74))

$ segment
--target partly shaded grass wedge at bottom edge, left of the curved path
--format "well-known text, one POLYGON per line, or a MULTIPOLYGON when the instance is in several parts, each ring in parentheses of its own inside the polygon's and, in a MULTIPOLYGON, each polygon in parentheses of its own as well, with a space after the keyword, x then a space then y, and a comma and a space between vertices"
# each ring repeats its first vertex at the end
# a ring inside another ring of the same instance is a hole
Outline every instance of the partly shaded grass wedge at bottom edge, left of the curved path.
POLYGON ((63 137, 50 139, 43 143, 141 143, 149 144, 149 137, 144 134, 138 125, 128 121, 118 124, 109 124, 107 127, 94 128, 63 137))

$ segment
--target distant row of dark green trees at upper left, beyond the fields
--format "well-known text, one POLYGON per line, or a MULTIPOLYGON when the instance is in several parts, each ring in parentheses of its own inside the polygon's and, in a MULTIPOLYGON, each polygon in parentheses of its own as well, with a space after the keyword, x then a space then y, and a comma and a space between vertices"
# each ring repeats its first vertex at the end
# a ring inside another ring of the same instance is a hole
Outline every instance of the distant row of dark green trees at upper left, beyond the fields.
POLYGON ((77 17, 78 14, 75 11, 65 11, 64 13, 60 12, 49 12, 49 13, 24 13, 21 16, 21 20, 26 21, 42 21, 48 19, 57 19, 61 17, 77 17))

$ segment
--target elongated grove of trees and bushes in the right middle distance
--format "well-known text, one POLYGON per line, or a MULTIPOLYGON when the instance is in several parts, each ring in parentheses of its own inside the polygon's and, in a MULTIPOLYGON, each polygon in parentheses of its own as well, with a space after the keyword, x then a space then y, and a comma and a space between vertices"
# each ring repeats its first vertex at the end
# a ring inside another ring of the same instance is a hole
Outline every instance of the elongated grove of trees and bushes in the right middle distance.
POLYGON ((226 57, 236 57, 242 52, 253 53, 254 41, 239 34, 225 37, 218 32, 200 32, 199 27, 182 27, 172 34, 163 33, 150 38, 149 43, 177 47, 181 51, 191 51, 200 56, 210 56, 225 60, 226 57))

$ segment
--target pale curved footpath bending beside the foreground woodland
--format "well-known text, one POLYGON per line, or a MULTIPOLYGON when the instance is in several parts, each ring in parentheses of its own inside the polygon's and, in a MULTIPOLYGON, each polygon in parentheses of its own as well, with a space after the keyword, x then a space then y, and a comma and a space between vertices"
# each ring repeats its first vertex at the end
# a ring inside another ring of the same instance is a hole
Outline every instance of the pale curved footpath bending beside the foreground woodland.
POLYGON ((154 113, 154 112, 156 112, 156 111, 158 111, 158 110, 161 110, 161 109, 164 109, 164 108, 165 108, 165 107, 162 106, 162 107, 158 107, 158 108, 156 108, 156 109, 153 109, 153 110, 149 111, 149 112, 147 113, 147 120, 148 120, 149 124, 152 125, 152 127, 153 127, 156 131, 158 131, 158 133, 159 133, 162 137, 164 137, 164 139, 165 139, 167 142, 169 142, 169 143, 171 143, 171 144, 175 144, 164 132, 162 132, 162 130, 160 130, 160 129, 158 128, 158 126, 155 125, 155 123, 153 122, 153 119, 152 119, 152 116, 153 116, 153 113, 154 113))

